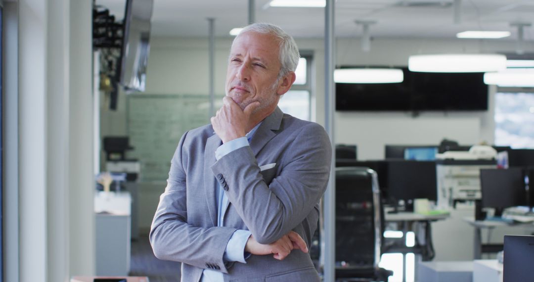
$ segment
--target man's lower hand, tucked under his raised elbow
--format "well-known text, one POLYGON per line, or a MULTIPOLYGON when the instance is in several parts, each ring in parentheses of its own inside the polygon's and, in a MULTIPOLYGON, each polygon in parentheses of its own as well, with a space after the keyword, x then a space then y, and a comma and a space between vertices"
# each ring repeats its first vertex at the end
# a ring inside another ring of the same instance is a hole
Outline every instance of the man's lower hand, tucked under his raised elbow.
POLYGON ((293 249, 301 249, 302 252, 308 253, 306 242, 304 242, 300 235, 294 231, 289 231, 289 233, 282 236, 282 238, 269 245, 258 243, 251 235, 245 246, 245 252, 254 255, 274 254, 274 259, 280 261, 285 259, 293 249))

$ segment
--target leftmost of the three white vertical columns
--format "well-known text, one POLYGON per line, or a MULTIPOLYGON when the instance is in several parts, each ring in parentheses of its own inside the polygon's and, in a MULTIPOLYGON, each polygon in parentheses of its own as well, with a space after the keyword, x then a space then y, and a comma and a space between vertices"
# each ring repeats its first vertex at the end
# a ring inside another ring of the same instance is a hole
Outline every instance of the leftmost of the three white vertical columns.
MULTIPOLYGON (((43 281, 46 265, 46 3, 19 1, 20 281, 43 281)), ((9 71, 9 70, 7 70, 9 71)))

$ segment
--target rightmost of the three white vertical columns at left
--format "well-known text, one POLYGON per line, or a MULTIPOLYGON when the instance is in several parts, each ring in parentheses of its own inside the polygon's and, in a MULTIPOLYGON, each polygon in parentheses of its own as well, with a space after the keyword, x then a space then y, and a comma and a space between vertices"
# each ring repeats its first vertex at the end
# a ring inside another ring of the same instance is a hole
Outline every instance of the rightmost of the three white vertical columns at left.
POLYGON ((93 275, 92 1, 70 2, 69 39, 69 268, 70 275, 93 275))

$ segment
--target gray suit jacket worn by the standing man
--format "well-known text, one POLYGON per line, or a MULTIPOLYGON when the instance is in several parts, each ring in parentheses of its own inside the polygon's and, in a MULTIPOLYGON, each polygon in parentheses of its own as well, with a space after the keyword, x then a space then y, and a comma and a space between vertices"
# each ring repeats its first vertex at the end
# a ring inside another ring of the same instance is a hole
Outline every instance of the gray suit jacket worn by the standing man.
POLYGON ((250 146, 217 161, 221 144, 211 125, 186 132, 180 140, 151 226, 156 257, 182 262, 184 282, 199 281, 207 268, 226 273, 225 281, 319 281, 310 255, 300 250, 282 261, 252 255, 246 264, 225 262, 223 254, 236 229, 250 230, 261 244, 294 230, 311 245, 331 165, 325 130, 277 108, 250 146), (216 181, 230 201, 224 227, 217 226, 216 181))

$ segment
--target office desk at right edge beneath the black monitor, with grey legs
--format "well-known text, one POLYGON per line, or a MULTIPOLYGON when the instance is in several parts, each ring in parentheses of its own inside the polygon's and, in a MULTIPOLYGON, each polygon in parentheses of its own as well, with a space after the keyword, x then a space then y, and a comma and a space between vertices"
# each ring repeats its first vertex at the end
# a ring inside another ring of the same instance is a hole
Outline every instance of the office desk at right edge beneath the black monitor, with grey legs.
POLYGON ((474 217, 464 217, 464 221, 475 229, 475 235, 473 238, 473 257, 475 260, 480 260, 482 253, 497 253, 503 249, 502 244, 483 244, 482 243, 482 230, 492 230, 497 227, 507 226, 524 226, 527 230, 534 231, 534 225, 532 223, 508 223, 504 221, 475 221, 474 217))

